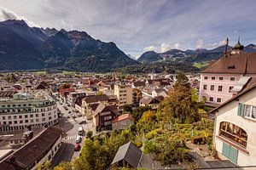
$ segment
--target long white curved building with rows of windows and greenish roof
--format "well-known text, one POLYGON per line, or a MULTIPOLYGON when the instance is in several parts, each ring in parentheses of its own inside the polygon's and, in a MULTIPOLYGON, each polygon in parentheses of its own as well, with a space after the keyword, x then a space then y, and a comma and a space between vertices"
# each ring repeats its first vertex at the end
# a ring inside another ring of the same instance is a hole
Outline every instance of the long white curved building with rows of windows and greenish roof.
POLYGON ((15 132, 57 123, 57 107, 50 98, 35 98, 31 94, 13 94, 0 99, 0 133, 15 132))

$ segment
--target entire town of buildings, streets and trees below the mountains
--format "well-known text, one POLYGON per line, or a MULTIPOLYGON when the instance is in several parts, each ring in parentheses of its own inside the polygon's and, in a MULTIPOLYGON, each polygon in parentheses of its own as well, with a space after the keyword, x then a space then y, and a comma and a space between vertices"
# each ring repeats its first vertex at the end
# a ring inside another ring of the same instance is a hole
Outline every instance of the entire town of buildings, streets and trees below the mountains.
POLYGON ((93 141, 109 138, 108 142, 111 135, 121 140, 113 141, 116 153, 106 165, 87 165, 91 169, 253 167, 255 55, 244 52, 238 41, 197 74, 2 73, 0 169, 46 169, 61 162, 74 162, 75 167, 86 161, 83 152, 88 147, 96 147, 93 141), (178 104, 186 102, 182 98, 187 95, 190 103, 178 104), (201 106, 192 108, 191 102, 201 106), (180 110, 177 116, 172 113, 178 123, 167 118, 167 110, 175 109, 180 110), (183 109, 201 113, 186 113, 182 119, 183 109), (166 145, 164 156, 157 156, 154 143, 165 133, 178 137, 172 139, 174 145, 166 145), (187 151, 169 158, 175 152, 172 147, 187 151), (177 164, 186 159, 193 164, 177 164))

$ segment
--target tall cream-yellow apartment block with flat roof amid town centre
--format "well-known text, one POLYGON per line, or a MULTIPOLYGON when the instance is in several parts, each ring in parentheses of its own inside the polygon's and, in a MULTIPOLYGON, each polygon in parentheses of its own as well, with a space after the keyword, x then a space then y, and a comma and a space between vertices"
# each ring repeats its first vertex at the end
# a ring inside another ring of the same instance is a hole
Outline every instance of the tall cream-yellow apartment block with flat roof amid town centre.
POLYGON ((113 94, 116 95, 119 100, 119 110, 122 110, 124 105, 132 105, 131 85, 115 84, 113 94))

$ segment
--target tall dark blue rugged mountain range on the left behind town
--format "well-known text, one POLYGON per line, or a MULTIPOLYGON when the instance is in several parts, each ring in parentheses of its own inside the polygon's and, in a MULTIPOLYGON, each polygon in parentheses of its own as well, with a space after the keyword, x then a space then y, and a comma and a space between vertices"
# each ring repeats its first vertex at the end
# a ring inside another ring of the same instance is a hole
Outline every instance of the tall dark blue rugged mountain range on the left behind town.
POLYGON ((30 27, 24 20, 0 22, 0 71, 105 72, 138 63, 115 43, 96 40, 85 31, 30 27))

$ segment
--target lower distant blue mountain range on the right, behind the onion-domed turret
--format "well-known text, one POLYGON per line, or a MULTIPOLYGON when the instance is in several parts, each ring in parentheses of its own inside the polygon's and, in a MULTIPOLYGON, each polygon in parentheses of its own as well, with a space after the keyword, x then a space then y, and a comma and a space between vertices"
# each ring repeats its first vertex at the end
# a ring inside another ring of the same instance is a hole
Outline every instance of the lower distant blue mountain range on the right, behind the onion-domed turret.
MULTIPOLYGON (((228 50, 231 48, 232 47, 228 46, 228 50)), ((137 60, 143 63, 160 61, 183 61, 193 65, 195 62, 209 62, 211 60, 216 60, 221 57, 221 54, 224 53, 224 50, 225 46, 223 45, 213 49, 199 48, 185 51, 179 49, 170 49, 164 53, 148 51, 143 53, 137 60)), ((255 53, 256 46, 254 44, 249 44, 243 50, 246 52, 255 53)))

